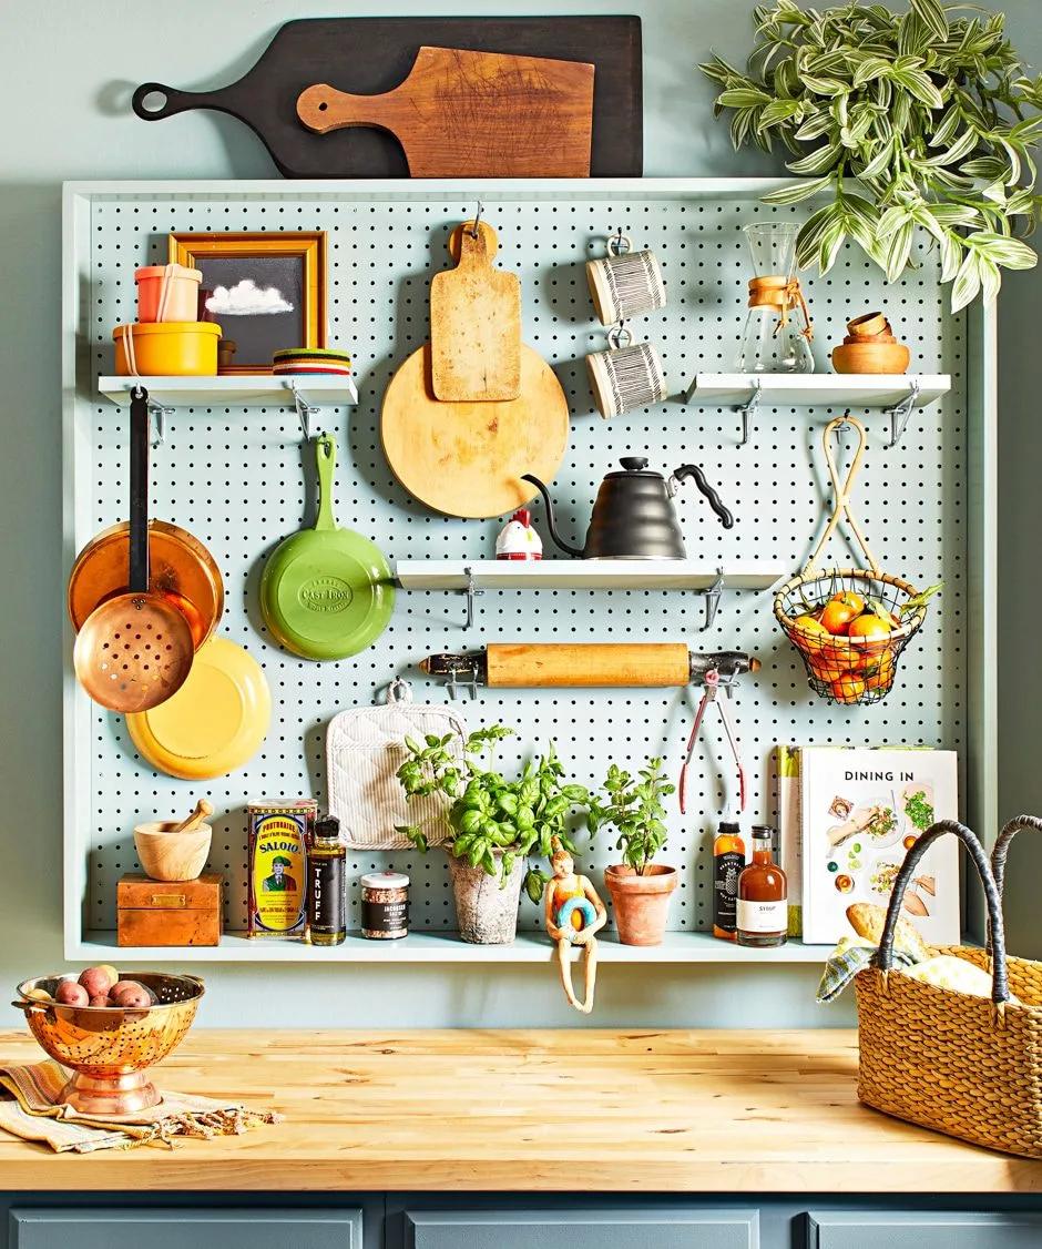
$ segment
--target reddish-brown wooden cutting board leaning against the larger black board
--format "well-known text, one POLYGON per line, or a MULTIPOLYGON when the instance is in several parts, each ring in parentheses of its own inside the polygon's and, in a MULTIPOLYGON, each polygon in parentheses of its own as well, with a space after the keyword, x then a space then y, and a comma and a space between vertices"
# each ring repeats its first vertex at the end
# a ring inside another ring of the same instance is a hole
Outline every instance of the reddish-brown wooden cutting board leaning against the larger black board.
POLYGON ((389 130, 412 177, 589 177, 593 82, 583 61, 421 47, 392 91, 319 82, 301 92, 297 116, 319 135, 389 130))

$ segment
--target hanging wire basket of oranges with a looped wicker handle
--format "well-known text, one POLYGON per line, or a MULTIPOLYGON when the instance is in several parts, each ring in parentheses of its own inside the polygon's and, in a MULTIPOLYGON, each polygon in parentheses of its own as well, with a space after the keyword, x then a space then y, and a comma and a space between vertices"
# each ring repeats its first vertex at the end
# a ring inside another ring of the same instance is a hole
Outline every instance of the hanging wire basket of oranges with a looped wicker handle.
POLYGON ((850 511, 854 481, 866 445, 865 426, 849 412, 830 421, 822 445, 835 506, 802 572, 775 593, 774 613, 804 659, 816 694, 839 703, 874 703, 893 687, 897 661, 926 620, 926 600, 907 581, 880 568, 850 511), (845 426, 857 432, 857 451, 840 481, 830 438, 845 426), (819 558, 845 517, 865 555, 866 568, 820 568, 819 558))

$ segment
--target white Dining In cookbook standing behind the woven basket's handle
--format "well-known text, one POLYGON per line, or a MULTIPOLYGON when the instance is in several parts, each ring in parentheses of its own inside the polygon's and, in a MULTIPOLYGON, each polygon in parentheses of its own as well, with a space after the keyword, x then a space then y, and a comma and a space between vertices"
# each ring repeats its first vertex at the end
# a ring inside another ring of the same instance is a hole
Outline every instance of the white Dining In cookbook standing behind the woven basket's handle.
MULTIPOLYGON (((810 746, 800 751, 802 929, 810 944, 850 933, 852 902, 886 907, 905 854, 938 819, 958 818, 955 751, 810 746)), ((927 851, 901 914, 935 945, 961 937, 958 842, 927 851)))

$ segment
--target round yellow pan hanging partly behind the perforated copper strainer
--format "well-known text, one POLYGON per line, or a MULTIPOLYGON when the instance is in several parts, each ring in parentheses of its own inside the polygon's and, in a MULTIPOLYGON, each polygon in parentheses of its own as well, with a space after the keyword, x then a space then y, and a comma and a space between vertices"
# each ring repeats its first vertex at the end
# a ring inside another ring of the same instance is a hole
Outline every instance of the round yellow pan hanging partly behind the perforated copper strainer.
POLYGON ((158 772, 210 781, 246 764, 271 723, 271 691, 248 651, 215 636, 196 651, 181 688, 126 718, 131 741, 158 772))

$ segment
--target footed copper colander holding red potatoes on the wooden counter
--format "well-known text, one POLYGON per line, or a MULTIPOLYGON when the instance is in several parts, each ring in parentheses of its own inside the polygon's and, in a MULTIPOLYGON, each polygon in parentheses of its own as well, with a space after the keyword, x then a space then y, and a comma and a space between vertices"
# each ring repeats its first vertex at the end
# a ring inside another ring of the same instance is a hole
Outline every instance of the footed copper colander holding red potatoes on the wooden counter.
POLYGON ((120 972, 152 994, 152 1007, 66 1007, 40 1000, 54 994, 67 975, 40 975, 17 987, 12 1005, 25 1012, 29 1030, 40 1045, 75 1074, 61 1100, 81 1114, 134 1114, 162 1100, 149 1079, 149 1068, 173 1050, 191 1028, 206 992, 196 975, 161 972, 120 972))

